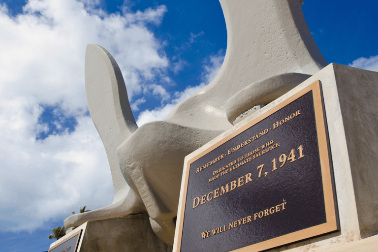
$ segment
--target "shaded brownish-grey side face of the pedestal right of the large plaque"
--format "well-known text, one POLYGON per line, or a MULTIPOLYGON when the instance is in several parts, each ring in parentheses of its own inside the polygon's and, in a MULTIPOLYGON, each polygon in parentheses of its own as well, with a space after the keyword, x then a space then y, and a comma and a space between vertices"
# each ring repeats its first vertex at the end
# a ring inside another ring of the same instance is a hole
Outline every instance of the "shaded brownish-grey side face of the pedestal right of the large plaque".
POLYGON ((334 64, 362 237, 378 234, 378 72, 334 64))

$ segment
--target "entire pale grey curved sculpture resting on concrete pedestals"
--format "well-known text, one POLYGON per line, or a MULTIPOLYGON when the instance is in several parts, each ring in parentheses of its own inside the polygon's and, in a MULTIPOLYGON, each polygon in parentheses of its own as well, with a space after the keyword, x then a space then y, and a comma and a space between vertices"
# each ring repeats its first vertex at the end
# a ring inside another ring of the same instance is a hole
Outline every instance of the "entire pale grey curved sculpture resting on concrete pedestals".
POLYGON ((72 215, 64 226, 145 212, 172 245, 184 158, 231 127, 239 115, 291 90, 327 63, 304 19, 301 0, 220 0, 227 27, 221 70, 164 121, 138 128, 122 73, 102 47, 89 44, 85 83, 114 185, 111 205, 72 215))

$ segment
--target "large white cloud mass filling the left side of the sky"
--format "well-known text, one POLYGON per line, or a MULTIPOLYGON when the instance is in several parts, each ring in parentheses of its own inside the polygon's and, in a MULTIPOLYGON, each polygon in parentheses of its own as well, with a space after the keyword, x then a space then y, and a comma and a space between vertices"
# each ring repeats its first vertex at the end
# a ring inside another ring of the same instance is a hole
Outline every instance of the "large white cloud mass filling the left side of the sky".
POLYGON ((169 81, 169 61, 146 28, 160 24, 166 7, 109 15, 94 8, 98 3, 29 0, 15 17, 0 4, 0 231, 33 230, 80 206, 113 200, 106 154, 86 114, 88 43, 114 56, 129 99, 144 89, 169 98, 162 86, 151 87, 156 78, 169 81), (46 106, 56 106, 52 114, 62 120, 41 121, 46 106), (68 117, 77 121, 70 133, 63 124, 68 117), (54 125, 63 131, 35 140, 54 125))

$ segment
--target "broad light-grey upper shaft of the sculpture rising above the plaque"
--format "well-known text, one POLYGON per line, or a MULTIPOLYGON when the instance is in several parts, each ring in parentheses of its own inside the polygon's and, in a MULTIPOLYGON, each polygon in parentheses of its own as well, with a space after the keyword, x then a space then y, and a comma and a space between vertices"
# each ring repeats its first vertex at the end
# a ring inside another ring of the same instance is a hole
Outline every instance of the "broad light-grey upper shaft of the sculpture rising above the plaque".
POLYGON ((232 95, 265 78, 284 73, 313 75, 327 65, 307 27, 300 0, 220 2, 227 28, 221 69, 209 85, 177 105, 165 121, 225 130, 231 126, 225 102, 232 95))

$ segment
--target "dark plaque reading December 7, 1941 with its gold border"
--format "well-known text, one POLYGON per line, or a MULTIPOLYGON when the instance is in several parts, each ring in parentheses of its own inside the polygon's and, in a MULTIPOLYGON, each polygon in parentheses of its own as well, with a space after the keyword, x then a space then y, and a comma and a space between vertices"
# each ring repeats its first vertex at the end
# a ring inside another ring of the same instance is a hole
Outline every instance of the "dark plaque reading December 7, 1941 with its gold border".
POLYGON ((320 82, 186 159, 176 252, 263 251, 339 229, 320 82))

